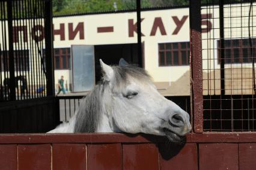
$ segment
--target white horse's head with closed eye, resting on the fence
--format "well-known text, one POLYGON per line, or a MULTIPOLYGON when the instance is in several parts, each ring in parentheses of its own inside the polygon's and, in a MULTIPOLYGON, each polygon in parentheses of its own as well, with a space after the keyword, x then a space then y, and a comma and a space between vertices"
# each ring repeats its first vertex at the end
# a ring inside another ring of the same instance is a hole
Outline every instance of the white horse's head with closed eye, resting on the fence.
POLYGON ((98 132, 147 133, 180 141, 190 132, 189 114, 163 97, 147 72, 127 64, 102 67, 102 126, 98 132), (103 126, 107 124, 107 126, 103 126))

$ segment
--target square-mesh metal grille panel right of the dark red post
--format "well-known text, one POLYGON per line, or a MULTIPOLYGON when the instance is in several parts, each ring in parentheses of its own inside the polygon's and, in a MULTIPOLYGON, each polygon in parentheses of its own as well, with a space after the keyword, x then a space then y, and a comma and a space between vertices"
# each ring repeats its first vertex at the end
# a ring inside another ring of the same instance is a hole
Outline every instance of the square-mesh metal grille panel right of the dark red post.
POLYGON ((242 0, 201 5, 204 131, 256 129, 255 6, 242 0))

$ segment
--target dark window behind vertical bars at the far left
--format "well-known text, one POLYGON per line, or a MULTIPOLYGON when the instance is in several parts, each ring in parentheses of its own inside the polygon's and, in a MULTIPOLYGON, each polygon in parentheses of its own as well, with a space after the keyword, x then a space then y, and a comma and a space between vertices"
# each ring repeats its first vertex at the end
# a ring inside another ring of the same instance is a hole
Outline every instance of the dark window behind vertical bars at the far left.
MULTIPOLYGON (((9 71, 9 53, 1 52, 1 71, 9 71)), ((29 71, 29 50, 14 50, 14 71, 29 71)))

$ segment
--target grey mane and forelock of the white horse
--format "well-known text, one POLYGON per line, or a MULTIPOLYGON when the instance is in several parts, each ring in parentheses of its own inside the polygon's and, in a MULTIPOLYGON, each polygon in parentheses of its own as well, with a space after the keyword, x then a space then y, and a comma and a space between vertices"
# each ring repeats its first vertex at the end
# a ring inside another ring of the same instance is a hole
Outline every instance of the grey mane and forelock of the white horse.
MULTIPOLYGON (((114 88, 118 88, 121 83, 127 82, 127 77, 132 76, 139 80, 149 80, 147 72, 139 67, 133 65, 112 66, 115 71, 115 85, 114 88)), ((97 130, 97 124, 100 120, 100 115, 102 114, 102 96, 106 86, 108 86, 107 81, 102 79, 85 97, 79 107, 78 113, 76 115, 75 132, 85 132, 93 133, 97 130)))

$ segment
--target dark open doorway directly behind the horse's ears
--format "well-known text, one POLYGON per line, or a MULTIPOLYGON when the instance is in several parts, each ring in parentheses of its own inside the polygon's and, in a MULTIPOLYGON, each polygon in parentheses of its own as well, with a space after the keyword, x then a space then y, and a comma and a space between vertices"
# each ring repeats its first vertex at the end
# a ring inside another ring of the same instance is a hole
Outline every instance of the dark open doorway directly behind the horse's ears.
POLYGON ((108 65, 117 65, 120 58, 142 67, 142 58, 138 58, 138 44, 111 44, 94 46, 96 82, 100 80, 101 68, 99 59, 108 65))

